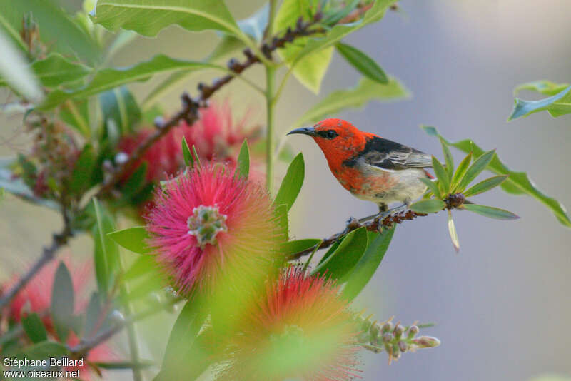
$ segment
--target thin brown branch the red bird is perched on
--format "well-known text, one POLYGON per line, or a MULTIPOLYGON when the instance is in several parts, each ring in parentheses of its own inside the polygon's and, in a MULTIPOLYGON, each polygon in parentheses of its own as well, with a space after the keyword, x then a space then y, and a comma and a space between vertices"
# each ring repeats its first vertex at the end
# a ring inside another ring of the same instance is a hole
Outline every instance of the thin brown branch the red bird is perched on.
MULTIPOLYGON (((443 201, 446 203, 446 206, 443 210, 446 210, 460 207, 460 205, 463 205, 463 203, 466 202, 466 199, 462 193, 456 193, 455 195, 448 195, 448 197, 443 201)), ((383 218, 383 220, 378 220, 378 218, 375 218, 374 220, 370 220, 367 223, 358 223, 357 220, 353 219, 348 222, 347 228, 345 228, 345 230, 330 235, 328 238, 323 238, 323 241, 320 243, 317 250, 329 248, 331 245, 333 245, 333 243, 345 237, 345 235, 348 235, 348 233, 363 226, 365 226, 365 228, 367 228, 369 231, 378 231, 382 228, 391 228, 395 223, 403 223, 403 221, 414 220, 417 217, 424 217, 425 215, 428 214, 416 213, 413 212, 413 210, 405 210, 404 212, 388 215, 387 217, 383 218)), ((315 246, 313 248, 308 248, 306 250, 290 255, 288 260, 295 260, 305 255, 309 255, 313 253, 313 250, 315 250, 315 246)))

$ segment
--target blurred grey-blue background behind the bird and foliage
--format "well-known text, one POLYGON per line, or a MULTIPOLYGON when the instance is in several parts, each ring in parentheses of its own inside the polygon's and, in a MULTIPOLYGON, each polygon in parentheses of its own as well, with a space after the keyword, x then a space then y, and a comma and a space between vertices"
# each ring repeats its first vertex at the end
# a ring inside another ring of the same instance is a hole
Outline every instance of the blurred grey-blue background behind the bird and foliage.
MULTIPOLYGON (((226 2, 236 19, 263 4, 226 2)), ((64 5, 79 9, 81 1, 64 5)), ((401 1, 400 7, 402 12, 388 12, 383 21, 361 29, 348 42, 400 79, 412 97, 370 103, 364 110, 338 117, 438 157, 440 143, 420 131, 420 124, 437 126, 453 141, 473 138, 482 148, 497 148, 507 166, 526 171, 542 191, 571 208, 571 117, 554 119, 544 112, 506 122, 513 106, 512 89, 518 84, 537 79, 571 81, 571 3, 432 0, 401 1)), ((157 53, 201 59, 217 39, 210 32, 190 34, 171 28, 157 39, 136 39, 113 64, 133 64, 157 53)), ((261 68, 246 76, 263 81, 261 68)), ((174 89, 162 102, 164 110, 176 111, 178 95, 183 89, 194 91, 197 81, 189 78, 174 89)), ((317 96, 290 81, 278 104, 279 133, 288 132, 318 98, 357 81, 358 73, 339 57, 317 96)), ((133 90, 143 99, 152 83, 138 83, 133 90)), ((219 100, 225 98, 236 109, 236 117, 251 108, 252 123, 263 123, 263 99, 249 88, 233 83, 218 95, 219 100)), ((26 149, 20 122, 0 117, 1 156, 26 149)), ((325 237, 341 230, 349 216, 376 211, 372 203, 341 188, 313 141, 293 136, 288 142, 295 151, 303 151, 306 163, 305 183, 292 209, 293 238, 325 237)), ((457 163, 462 157, 455 156, 457 163)), ((364 380, 529 380, 545 373, 571 375, 571 230, 531 198, 513 197, 499 189, 478 197, 479 203, 511 210, 521 219, 504 222, 456 211, 458 255, 444 213, 398 227, 383 265, 355 301, 355 309, 366 308, 378 320, 395 315, 405 325, 414 320, 435 322, 423 334, 438 337, 442 345, 405 355, 390 366, 384 353, 362 351, 364 380)), ((6 195, 0 204, 0 280, 26 268, 59 225, 56 213, 6 195)), ((74 238, 69 250, 89 258, 91 240, 74 238)), ((139 325, 148 339, 143 353, 160 354, 171 326, 164 316, 139 325), (150 326, 153 333, 148 332, 150 326)), ((119 340, 117 346, 121 345, 119 340)), ((131 377, 130 372, 114 375, 131 377)))

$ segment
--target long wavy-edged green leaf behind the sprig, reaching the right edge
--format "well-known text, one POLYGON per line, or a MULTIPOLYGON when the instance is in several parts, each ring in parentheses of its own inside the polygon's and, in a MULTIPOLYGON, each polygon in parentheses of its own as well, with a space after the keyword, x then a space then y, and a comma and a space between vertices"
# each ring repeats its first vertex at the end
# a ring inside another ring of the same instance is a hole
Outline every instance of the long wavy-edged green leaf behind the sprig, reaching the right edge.
MULTIPOLYGON (((440 136, 434 127, 423 127, 423 129, 429 135, 440 136)), ((477 146, 476 143, 469 139, 457 142, 446 141, 446 143, 449 146, 458 148, 460 151, 464 151, 465 153, 473 151, 476 156, 480 156, 484 153, 484 150, 482 150, 480 146, 477 146)), ((567 226, 567 228, 571 228, 571 220, 562 205, 555 200, 555 198, 551 198, 537 189, 530 178, 527 177, 527 173, 511 171, 510 168, 507 168, 507 166, 500 161, 500 158, 498 158, 497 155, 492 158, 492 161, 487 166, 487 170, 492 171, 497 175, 509 175, 507 180, 501 185, 504 191, 514 195, 529 195, 530 197, 535 198, 547 206, 562 225, 567 226)))

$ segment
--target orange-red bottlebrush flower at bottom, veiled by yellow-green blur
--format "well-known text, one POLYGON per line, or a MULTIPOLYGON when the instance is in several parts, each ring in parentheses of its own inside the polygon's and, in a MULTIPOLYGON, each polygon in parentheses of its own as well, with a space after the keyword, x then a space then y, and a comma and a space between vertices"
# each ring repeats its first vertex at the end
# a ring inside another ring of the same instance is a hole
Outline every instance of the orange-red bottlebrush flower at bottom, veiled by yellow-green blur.
POLYGON ((355 377, 358 329, 338 287, 296 268, 271 280, 228 346, 219 380, 355 377))

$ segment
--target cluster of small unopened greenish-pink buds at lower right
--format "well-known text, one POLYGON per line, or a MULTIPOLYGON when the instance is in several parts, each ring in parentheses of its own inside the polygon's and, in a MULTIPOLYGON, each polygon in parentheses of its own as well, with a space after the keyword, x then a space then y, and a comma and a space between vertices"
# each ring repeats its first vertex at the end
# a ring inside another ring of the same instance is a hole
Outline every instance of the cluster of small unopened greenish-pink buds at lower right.
POLYGON ((399 323, 393 324, 390 320, 371 322, 370 317, 363 318, 360 315, 355 317, 360 330, 359 342, 366 350, 375 353, 384 350, 388 353, 390 362, 393 359, 398 360, 400 355, 405 352, 414 352, 420 348, 433 348, 440 345, 440 340, 435 337, 417 337, 420 332, 418 326, 404 327, 399 323))

